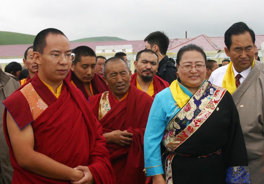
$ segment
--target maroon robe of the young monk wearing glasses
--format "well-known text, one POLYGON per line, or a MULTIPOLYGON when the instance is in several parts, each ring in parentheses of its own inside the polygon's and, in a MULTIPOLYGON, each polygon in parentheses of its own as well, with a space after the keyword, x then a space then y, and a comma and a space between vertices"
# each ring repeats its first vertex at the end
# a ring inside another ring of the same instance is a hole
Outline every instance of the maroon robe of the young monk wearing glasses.
POLYGON ((101 124, 92 114, 92 109, 82 93, 67 79, 63 80, 61 94, 57 99, 36 74, 27 85, 20 87, 3 104, 6 107, 4 134, 14 168, 12 183, 70 183, 70 181, 46 178, 18 165, 6 127, 7 110, 19 129, 31 123, 35 151, 71 168, 79 165, 88 166, 95 183, 115 183, 101 124), (33 90, 26 93, 25 89, 30 89, 30 85, 33 90), (25 89, 22 93, 23 88, 25 89), (38 99, 34 98, 34 92, 39 95, 38 99), (30 106, 31 100, 37 101, 36 106, 30 106), (43 112, 36 117, 36 114, 32 113, 38 113, 34 108, 39 108, 43 112))

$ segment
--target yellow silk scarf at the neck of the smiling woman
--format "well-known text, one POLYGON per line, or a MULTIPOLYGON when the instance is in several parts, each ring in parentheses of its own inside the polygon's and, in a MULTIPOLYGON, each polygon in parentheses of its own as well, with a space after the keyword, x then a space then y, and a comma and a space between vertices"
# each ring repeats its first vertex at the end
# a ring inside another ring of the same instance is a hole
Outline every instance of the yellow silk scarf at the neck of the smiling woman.
POLYGON ((185 106, 185 104, 187 104, 187 102, 190 100, 190 97, 182 91, 180 85, 178 84, 178 80, 174 80, 171 83, 170 91, 173 99, 180 106, 180 108, 185 106))

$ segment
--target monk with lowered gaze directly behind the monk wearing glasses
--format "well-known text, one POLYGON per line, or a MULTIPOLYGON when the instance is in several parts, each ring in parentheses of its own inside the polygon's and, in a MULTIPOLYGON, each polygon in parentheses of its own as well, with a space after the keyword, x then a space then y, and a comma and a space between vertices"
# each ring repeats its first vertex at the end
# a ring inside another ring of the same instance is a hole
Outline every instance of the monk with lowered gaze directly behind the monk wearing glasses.
POLYGON ((75 60, 66 78, 81 90, 87 100, 90 96, 108 91, 103 77, 95 73, 97 62, 95 52, 87 46, 79 46, 72 52, 75 53, 75 60))

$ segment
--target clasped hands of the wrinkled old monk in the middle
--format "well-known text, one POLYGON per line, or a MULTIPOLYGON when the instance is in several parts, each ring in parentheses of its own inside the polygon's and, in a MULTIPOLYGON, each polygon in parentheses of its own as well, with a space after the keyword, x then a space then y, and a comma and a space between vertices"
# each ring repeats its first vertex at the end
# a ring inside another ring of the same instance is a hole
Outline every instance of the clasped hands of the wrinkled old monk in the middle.
POLYGON ((120 146, 129 146, 133 141, 132 136, 133 134, 128 133, 126 130, 115 130, 104 134, 106 143, 115 143, 120 146))

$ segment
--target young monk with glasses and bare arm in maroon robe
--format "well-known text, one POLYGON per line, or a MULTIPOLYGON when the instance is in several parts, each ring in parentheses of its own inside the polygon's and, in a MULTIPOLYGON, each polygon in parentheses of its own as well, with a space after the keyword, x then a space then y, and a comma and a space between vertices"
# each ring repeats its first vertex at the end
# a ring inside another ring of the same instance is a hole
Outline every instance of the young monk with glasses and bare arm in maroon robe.
POLYGON ((33 43, 38 72, 3 102, 13 183, 115 183, 101 124, 64 79, 71 51, 61 31, 40 31, 33 43))

